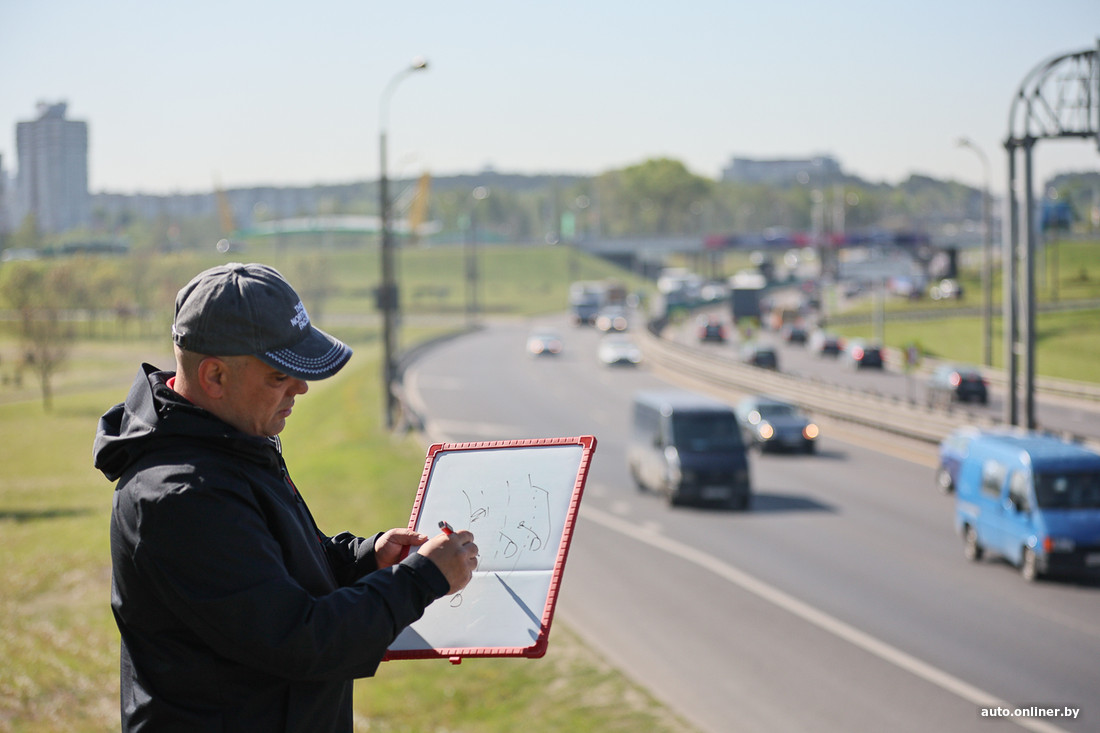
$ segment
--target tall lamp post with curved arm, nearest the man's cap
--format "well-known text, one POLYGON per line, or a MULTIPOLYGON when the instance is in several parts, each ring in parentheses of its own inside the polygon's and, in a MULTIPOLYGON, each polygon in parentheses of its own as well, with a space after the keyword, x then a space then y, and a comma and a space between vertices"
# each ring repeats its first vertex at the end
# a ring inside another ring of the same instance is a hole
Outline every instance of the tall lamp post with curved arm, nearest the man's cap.
POLYGON ((378 308, 382 310, 382 389, 386 400, 386 427, 394 427, 394 413, 397 400, 394 394, 396 379, 396 344, 397 314, 399 310, 397 296, 397 277, 394 272, 394 243, 389 233, 389 182, 386 178, 386 113, 389 96, 398 81, 413 72, 428 68, 428 61, 422 56, 413 59, 407 68, 398 72, 382 91, 378 102, 378 229, 382 234, 382 285, 378 287, 378 308))

